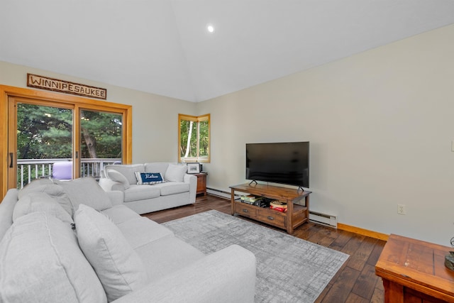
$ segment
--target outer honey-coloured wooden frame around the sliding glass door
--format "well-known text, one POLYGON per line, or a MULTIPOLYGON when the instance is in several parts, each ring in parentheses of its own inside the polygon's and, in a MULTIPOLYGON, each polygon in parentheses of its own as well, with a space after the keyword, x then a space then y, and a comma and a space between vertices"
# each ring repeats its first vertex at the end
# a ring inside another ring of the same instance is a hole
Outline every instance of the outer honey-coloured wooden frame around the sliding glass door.
MULTIPOLYGON (((132 124, 133 124, 133 106, 126 104, 112 103, 109 101, 101 101, 88 99, 84 97, 75 97, 67 94, 55 92, 45 92, 37 89, 26 89, 21 87, 10 87, 0 85, 0 197, 3 199, 8 191, 8 115, 9 115, 9 97, 25 97, 28 99, 37 99, 42 101, 55 101, 60 104, 74 104, 74 107, 79 109, 104 110, 111 109, 121 111, 126 119, 123 122, 123 163, 131 163, 132 154, 132 124)), ((74 127, 79 125, 75 123, 74 127)), ((76 132, 77 133, 77 132, 76 132)), ((76 137, 76 136, 74 136, 76 137)), ((73 139, 78 140, 78 138, 73 139)), ((75 150, 75 149, 74 149, 75 150)), ((1 200, 0 200, 1 201, 1 200)))

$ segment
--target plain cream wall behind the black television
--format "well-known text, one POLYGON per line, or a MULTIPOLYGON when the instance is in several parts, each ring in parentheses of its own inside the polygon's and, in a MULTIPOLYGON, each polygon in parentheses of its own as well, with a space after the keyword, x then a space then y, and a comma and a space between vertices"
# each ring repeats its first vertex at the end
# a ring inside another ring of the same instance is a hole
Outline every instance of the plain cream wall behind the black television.
POLYGON ((245 182, 245 143, 310 141, 311 209, 443 245, 454 236, 454 26, 204 101, 197 111, 211 114, 208 187, 245 182))

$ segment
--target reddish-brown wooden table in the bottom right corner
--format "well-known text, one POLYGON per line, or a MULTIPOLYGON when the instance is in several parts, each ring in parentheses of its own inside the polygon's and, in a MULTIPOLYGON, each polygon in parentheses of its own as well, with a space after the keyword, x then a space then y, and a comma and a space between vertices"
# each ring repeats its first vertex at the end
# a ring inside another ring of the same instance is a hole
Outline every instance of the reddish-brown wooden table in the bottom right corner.
POLYGON ((454 302, 454 271, 445 267, 448 246, 391 235, 375 274, 382 277, 384 302, 454 302))

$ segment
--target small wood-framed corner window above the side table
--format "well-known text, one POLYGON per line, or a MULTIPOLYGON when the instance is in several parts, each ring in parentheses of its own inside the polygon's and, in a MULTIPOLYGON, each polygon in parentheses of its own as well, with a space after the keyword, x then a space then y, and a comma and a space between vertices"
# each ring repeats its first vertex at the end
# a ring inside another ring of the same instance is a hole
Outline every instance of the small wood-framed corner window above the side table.
POLYGON ((178 161, 210 162, 210 114, 178 115, 178 161))

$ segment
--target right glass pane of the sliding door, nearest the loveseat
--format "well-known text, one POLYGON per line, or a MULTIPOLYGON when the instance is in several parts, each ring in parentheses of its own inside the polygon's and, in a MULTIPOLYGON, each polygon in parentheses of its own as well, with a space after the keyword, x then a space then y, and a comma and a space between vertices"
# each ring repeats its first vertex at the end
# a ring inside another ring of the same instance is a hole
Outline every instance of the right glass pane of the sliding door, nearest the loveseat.
POLYGON ((80 111, 80 177, 101 177, 104 165, 121 163, 123 115, 80 111))

